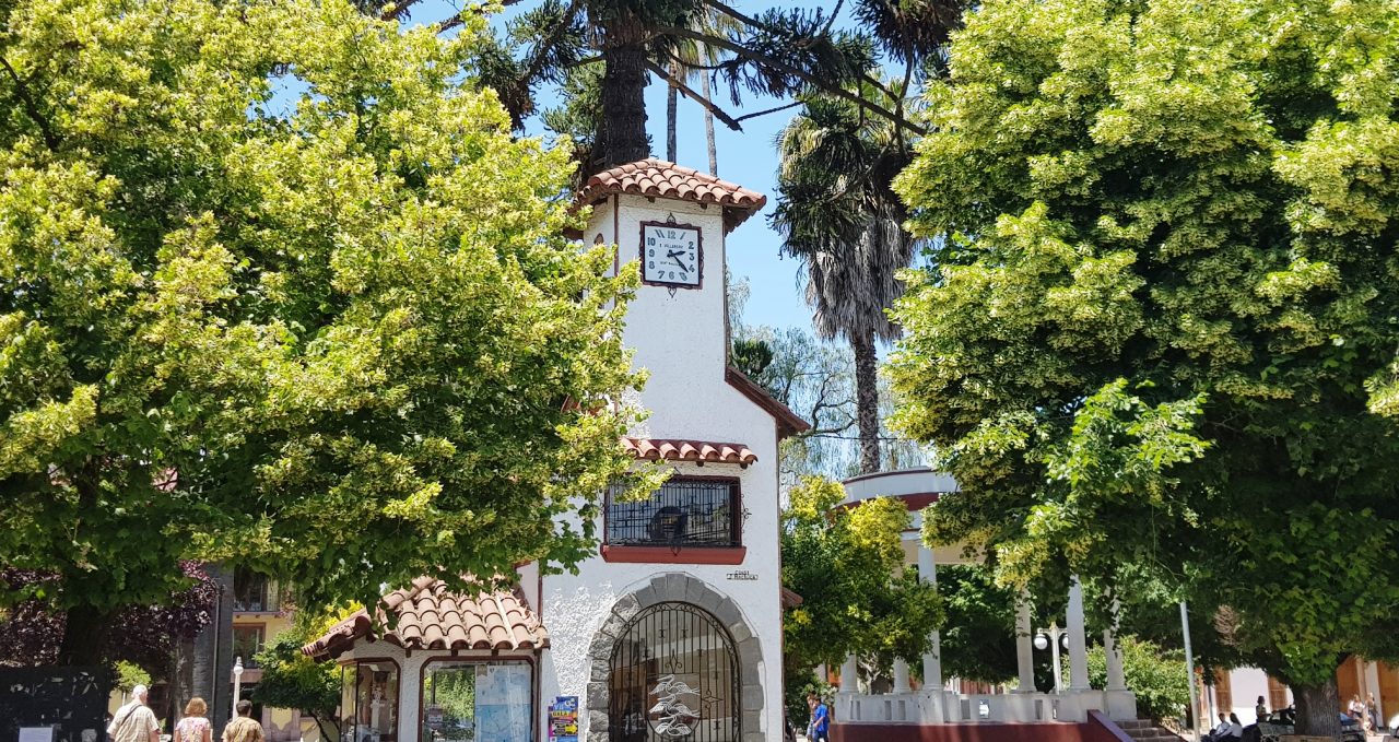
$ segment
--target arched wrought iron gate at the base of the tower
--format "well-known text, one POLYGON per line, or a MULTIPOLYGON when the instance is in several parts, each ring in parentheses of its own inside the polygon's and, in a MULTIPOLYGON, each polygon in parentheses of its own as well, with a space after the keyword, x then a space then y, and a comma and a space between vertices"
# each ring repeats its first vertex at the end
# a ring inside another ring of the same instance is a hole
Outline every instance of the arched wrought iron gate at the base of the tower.
POLYGON ((611 742, 739 742, 739 655, 729 631, 690 603, 637 615, 613 645, 611 742))

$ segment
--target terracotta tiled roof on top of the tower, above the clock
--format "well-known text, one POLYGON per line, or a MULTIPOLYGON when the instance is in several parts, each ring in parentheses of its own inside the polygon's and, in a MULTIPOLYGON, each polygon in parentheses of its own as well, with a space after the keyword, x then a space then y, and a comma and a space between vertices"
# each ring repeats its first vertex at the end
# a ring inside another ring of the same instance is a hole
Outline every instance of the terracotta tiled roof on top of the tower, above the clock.
POLYGON ((725 230, 743 224, 750 214, 768 203, 768 197, 762 193, 655 157, 593 175, 583 183, 575 200, 581 204, 596 203, 611 193, 726 206, 729 209, 725 209, 725 230))

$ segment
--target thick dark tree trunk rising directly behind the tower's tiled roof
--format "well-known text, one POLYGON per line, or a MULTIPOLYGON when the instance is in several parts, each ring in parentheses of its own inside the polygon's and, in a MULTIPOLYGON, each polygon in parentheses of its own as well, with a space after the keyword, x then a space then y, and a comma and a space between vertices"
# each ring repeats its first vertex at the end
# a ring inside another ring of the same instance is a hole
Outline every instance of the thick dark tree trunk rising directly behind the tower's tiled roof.
POLYGON ((651 155, 645 31, 634 15, 611 18, 603 28, 603 169, 651 155))

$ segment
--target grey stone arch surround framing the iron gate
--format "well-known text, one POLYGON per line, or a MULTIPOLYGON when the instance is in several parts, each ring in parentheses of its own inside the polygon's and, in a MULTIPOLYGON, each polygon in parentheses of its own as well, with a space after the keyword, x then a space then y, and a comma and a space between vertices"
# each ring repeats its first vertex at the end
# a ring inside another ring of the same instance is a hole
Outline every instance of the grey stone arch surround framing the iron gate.
POLYGON ((624 595, 613 603, 611 613, 593 634, 588 647, 592 669, 588 680, 588 742, 609 742, 611 731, 607 717, 611 690, 607 673, 611 666, 613 645, 627 624, 644 609, 658 603, 683 602, 709 612, 729 630, 739 654, 739 703, 743 722, 743 742, 761 742, 762 735, 762 644, 753 636, 743 612, 732 599, 719 595, 705 582, 683 573, 665 573, 651 578, 645 587, 624 595))

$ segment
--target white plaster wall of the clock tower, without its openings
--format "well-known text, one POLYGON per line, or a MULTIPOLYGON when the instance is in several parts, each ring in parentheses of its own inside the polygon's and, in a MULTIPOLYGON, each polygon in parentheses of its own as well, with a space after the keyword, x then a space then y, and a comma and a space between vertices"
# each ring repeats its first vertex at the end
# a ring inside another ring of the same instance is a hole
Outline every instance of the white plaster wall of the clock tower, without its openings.
MULTIPOLYGON (((706 582, 715 592, 730 598, 743 612, 753 634, 762 643, 761 678, 764 699, 762 728, 771 738, 782 728, 782 608, 778 540, 778 449, 776 423, 761 407, 725 381, 725 277, 723 214, 716 206, 702 209, 688 202, 642 196, 618 196, 617 228, 614 200, 597 204, 585 239, 618 244, 618 265, 635 260, 639 249, 641 221, 665 221, 674 214, 681 224, 702 230, 702 287, 677 288, 642 286, 628 307, 624 342, 635 350, 634 364, 651 371, 639 405, 651 412, 634 435, 651 438, 691 438, 741 442, 757 454, 747 469, 736 465, 695 466, 666 465, 679 475, 736 476, 740 480, 743 507, 743 564, 625 564, 600 557, 586 560, 578 574, 544 578, 541 606, 551 650, 543 664, 541 696, 547 704, 554 696, 578 696, 586 706, 590 661, 588 650, 593 633, 606 620, 611 605, 623 595, 645 587, 662 573, 684 573, 706 582), (729 574, 747 570, 754 581, 729 580, 729 574)), ((632 265, 635 267, 635 265, 632 265)), ((602 519, 597 532, 602 533, 602 519)), ((586 735, 582 715, 581 735, 586 735)))

